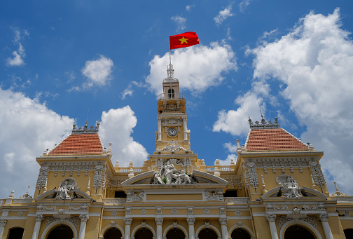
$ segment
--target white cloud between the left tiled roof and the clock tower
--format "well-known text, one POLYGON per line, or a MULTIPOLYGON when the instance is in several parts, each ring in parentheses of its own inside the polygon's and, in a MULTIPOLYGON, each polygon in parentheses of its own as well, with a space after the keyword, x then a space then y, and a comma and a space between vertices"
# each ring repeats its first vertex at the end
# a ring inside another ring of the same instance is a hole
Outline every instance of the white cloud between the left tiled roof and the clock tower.
POLYGON ((110 109, 102 113, 102 125, 100 135, 104 145, 112 142, 113 161, 119 161, 120 167, 129 165, 133 161, 134 165, 141 167, 142 163, 148 159, 148 153, 144 146, 134 141, 132 135, 133 128, 137 124, 134 111, 129 106, 120 109, 110 109))

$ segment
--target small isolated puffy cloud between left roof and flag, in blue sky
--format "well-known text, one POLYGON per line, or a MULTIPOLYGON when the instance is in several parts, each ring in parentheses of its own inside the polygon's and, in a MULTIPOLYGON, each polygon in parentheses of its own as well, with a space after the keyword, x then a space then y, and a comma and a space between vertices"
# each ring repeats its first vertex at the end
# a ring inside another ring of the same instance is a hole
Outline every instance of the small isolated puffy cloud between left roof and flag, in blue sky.
POLYGON ((100 55, 97 60, 88 60, 85 62, 82 74, 88 78, 83 88, 92 88, 93 86, 105 86, 111 80, 111 71, 113 70, 113 60, 100 55))

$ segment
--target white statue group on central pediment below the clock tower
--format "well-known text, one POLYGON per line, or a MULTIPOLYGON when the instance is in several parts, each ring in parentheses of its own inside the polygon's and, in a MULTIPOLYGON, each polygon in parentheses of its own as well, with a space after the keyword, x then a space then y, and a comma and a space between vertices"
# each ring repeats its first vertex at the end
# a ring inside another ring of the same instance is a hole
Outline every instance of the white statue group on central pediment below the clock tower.
POLYGON ((186 174, 185 170, 174 168, 174 165, 167 161, 162 168, 155 173, 153 184, 192 184, 193 177, 186 174))

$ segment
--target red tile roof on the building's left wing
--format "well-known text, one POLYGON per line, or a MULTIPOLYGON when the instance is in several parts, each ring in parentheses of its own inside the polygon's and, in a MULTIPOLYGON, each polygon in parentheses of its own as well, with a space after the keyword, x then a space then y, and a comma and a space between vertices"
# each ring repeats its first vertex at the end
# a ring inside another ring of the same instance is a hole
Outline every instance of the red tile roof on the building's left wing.
POLYGON ((98 134, 73 134, 56 146, 48 155, 82 155, 103 153, 98 134))

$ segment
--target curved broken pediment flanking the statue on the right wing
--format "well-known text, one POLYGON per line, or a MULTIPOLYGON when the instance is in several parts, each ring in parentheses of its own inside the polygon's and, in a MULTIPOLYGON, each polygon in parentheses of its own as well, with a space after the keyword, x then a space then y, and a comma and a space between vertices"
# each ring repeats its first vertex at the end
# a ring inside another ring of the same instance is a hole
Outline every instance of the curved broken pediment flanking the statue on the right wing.
MULTIPOLYGON (((284 196, 284 189, 281 186, 277 186, 274 189, 269 190, 267 193, 264 193, 261 196, 263 200, 275 200, 276 198, 286 198, 284 196)), ((301 189, 298 189, 298 193, 300 193, 300 198, 288 198, 288 199, 297 199, 297 200, 305 200, 307 198, 315 198, 315 199, 323 199, 326 200, 327 196, 324 193, 321 193, 315 189, 310 189, 306 186, 302 186, 301 189)), ((286 198, 287 199, 287 198, 286 198)))

